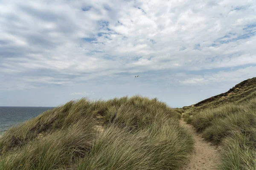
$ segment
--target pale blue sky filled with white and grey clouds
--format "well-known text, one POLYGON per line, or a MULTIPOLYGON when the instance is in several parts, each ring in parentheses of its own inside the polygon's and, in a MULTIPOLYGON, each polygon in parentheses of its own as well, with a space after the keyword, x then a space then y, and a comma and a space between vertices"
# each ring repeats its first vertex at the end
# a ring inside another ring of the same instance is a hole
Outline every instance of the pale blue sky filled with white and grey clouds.
POLYGON ((0 106, 139 94, 176 108, 252 77, 255 0, 0 1, 0 106))

